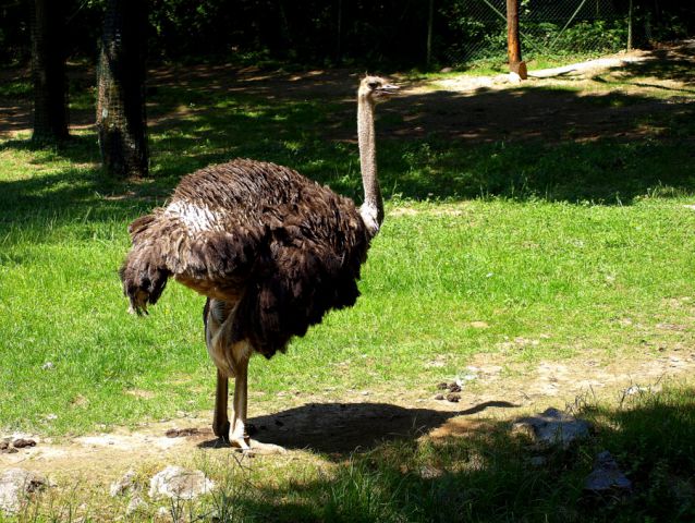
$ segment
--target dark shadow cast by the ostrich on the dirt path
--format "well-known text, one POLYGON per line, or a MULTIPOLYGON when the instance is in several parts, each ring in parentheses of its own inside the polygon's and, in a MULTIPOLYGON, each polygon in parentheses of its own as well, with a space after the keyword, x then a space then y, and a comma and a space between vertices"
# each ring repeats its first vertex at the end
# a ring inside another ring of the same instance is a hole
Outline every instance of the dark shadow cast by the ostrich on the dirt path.
MULTIPOLYGON (((487 401, 461 411, 407 409, 390 403, 308 403, 275 414, 249 418, 251 436, 285 449, 328 454, 366 451, 394 439, 415 439, 456 416, 490 408, 515 408, 507 401, 487 401)), ((224 448, 206 440, 200 448, 224 448)))

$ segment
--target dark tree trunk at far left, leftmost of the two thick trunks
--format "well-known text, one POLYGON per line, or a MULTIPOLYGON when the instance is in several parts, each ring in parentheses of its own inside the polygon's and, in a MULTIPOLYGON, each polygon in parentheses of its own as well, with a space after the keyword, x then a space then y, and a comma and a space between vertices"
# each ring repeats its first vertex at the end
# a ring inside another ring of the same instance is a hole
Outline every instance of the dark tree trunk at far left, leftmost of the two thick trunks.
POLYGON ((60 142, 68 137, 64 31, 62 1, 32 2, 34 142, 60 142))

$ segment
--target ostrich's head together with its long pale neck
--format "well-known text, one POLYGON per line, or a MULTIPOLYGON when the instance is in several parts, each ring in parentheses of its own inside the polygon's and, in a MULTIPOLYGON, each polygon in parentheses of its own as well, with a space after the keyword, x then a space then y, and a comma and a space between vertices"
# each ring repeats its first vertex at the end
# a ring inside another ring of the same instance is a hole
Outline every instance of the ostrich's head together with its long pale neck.
POLYGON ((365 76, 357 89, 357 138, 359 169, 365 199, 359 215, 370 236, 379 232, 383 221, 383 200, 377 180, 377 154, 374 136, 374 106, 395 93, 398 87, 379 76, 365 76))

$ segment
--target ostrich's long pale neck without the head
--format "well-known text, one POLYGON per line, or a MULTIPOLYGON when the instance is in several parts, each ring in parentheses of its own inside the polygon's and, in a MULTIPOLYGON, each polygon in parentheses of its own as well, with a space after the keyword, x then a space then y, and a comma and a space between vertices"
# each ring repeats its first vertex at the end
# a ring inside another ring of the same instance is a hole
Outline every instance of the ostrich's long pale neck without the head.
POLYGON ((377 180, 374 104, 363 96, 357 97, 357 139, 359 143, 359 169, 365 191, 365 199, 359 212, 371 234, 376 234, 383 221, 383 200, 377 180))

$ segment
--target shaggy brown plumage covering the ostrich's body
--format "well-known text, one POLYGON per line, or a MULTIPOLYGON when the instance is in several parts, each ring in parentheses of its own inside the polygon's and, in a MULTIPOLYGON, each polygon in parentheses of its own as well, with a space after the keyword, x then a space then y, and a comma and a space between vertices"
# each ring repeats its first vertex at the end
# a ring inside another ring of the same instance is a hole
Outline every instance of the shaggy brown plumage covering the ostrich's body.
POLYGON ((233 160, 185 177, 130 228, 121 278, 134 309, 168 277, 237 302, 233 337, 268 357, 330 308, 353 305, 369 235, 352 200, 286 167, 233 160))

